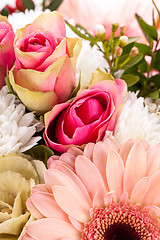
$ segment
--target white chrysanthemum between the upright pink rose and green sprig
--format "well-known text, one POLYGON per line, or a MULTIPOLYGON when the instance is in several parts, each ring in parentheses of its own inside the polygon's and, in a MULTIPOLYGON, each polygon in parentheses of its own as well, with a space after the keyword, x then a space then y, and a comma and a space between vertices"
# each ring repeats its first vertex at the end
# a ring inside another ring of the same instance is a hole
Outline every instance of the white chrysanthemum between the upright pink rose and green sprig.
MULTIPOLYGON (((74 25, 74 20, 69 21, 74 25)), ((66 25, 67 37, 78 37, 67 25, 66 25)), ((98 50, 96 46, 91 47, 89 41, 82 41, 82 49, 77 59, 76 64, 76 80, 81 80, 81 88, 89 86, 92 73, 99 68, 105 71, 108 68, 107 61, 104 59, 102 52, 98 50)))

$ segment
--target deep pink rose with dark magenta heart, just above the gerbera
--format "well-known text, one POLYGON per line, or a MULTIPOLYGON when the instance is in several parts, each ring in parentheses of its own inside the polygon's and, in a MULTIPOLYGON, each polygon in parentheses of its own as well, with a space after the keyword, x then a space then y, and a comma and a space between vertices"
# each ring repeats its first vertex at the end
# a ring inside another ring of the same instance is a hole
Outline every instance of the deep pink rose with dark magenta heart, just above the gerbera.
POLYGON ((82 146, 102 140, 106 130, 114 129, 126 83, 105 80, 80 90, 71 102, 58 104, 45 114, 44 139, 50 148, 63 153, 72 145, 82 146))

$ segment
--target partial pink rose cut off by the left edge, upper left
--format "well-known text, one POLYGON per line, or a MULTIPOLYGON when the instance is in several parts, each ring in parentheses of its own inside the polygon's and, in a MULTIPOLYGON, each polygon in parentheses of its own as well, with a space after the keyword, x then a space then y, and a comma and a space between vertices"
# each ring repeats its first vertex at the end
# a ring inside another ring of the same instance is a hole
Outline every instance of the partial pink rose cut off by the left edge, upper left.
POLYGON ((0 89, 5 85, 7 68, 10 70, 15 60, 14 36, 7 18, 0 15, 0 89))

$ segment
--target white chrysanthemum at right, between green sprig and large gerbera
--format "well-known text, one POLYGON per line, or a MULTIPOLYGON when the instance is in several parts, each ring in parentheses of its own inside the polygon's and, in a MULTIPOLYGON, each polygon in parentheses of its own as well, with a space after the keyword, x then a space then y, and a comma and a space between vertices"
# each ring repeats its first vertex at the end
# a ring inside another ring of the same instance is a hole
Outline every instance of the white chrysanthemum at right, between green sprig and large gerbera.
POLYGON ((128 93, 128 99, 115 126, 115 139, 120 145, 129 138, 157 143, 160 142, 159 133, 160 119, 154 113, 149 113, 148 106, 144 106, 144 98, 128 93))

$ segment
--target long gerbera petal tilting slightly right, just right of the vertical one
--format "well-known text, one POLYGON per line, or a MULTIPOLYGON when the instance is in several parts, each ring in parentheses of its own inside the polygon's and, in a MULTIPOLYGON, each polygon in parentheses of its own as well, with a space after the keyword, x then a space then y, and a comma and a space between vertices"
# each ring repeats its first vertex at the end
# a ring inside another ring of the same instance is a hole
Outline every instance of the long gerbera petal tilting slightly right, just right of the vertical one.
POLYGON ((146 152, 141 143, 132 147, 124 170, 124 192, 130 195, 136 182, 146 175, 146 152))

